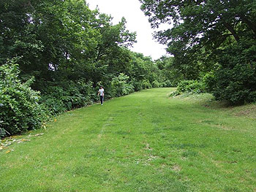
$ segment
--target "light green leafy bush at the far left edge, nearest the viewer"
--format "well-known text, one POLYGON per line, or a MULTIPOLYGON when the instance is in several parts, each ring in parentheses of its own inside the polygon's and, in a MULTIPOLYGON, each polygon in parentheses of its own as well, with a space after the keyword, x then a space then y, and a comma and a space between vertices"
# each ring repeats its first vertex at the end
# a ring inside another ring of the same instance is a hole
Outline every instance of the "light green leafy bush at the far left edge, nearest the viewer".
POLYGON ((0 134, 19 134, 40 128, 46 119, 45 107, 39 104, 39 92, 20 82, 15 60, 0 66, 0 134))

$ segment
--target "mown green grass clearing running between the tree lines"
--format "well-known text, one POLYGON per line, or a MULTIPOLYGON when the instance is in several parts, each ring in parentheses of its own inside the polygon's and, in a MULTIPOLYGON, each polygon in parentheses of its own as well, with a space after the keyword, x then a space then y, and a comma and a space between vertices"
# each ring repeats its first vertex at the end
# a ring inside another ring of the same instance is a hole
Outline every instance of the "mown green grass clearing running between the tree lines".
POLYGON ((255 105, 171 91, 67 112, 16 137, 0 151, 0 191, 255 192, 255 105))

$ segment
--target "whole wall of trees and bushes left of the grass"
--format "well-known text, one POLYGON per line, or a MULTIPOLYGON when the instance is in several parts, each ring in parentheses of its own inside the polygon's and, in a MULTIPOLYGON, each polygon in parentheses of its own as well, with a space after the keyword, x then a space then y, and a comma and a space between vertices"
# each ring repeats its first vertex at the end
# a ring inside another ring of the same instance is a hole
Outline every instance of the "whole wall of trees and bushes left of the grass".
POLYGON ((105 99, 170 85, 150 57, 128 49, 135 37, 124 18, 114 25, 83 0, 2 0, 0 137, 97 101, 99 85, 105 99))

